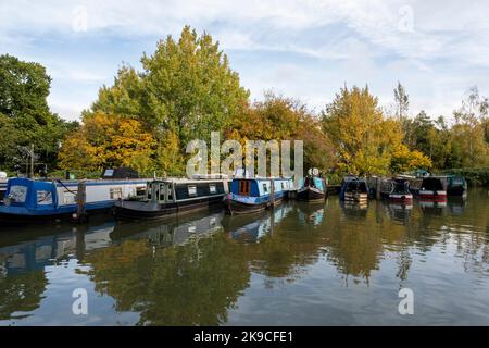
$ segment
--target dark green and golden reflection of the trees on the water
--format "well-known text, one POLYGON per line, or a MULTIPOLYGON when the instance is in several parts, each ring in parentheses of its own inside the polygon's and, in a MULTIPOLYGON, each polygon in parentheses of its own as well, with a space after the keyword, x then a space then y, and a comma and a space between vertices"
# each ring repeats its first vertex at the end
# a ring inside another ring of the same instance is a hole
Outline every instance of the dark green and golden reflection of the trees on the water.
MULTIPOLYGON (((137 312, 139 325, 225 324, 241 297, 252 300, 251 287, 287 287, 308 279, 311 268, 321 264, 334 266, 341 286, 372 286, 380 273, 400 288, 410 284, 413 262, 436 250, 438 258, 463 260, 465 273, 487 277, 484 194, 413 207, 346 206, 333 197, 319 204, 288 202, 258 215, 201 213, 75 232, 37 228, 35 237, 5 234, 0 238, 0 315, 30 315, 46 296, 45 266, 70 258, 85 265, 76 272, 88 276, 96 291, 114 299, 116 312, 137 312), (386 260, 393 262, 386 268, 386 260), (262 283, 253 283, 254 276, 262 283)), ((423 264, 423 272, 437 272, 430 266, 423 264)), ((324 286, 331 291, 334 284, 324 286)))

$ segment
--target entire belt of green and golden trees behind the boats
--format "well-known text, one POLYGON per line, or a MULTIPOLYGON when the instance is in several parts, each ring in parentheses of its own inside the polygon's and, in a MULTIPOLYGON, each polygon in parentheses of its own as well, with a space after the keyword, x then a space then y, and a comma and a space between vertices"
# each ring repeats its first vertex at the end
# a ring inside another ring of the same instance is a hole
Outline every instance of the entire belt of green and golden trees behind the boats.
MULTIPOLYGON (((489 165, 489 101, 475 87, 450 126, 424 111, 410 119, 410 99, 400 83, 390 117, 367 87, 342 88, 321 117, 300 101, 272 92, 250 104, 218 42, 188 26, 178 39, 160 40, 141 64, 141 71, 120 69, 113 85, 103 86, 84 111, 80 126, 50 112, 51 78, 42 65, 0 55, 0 167, 12 172, 25 165, 21 147, 34 145, 36 161, 51 172, 71 169, 84 176, 129 165, 141 173, 183 175, 187 144, 209 141, 211 132, 241 142, 303 140, 304 169, 328 173, 333 167, 331 181, 347 172, 387 175, 489 165)), ((487 183, 480 171, 467 175, 487 183)))

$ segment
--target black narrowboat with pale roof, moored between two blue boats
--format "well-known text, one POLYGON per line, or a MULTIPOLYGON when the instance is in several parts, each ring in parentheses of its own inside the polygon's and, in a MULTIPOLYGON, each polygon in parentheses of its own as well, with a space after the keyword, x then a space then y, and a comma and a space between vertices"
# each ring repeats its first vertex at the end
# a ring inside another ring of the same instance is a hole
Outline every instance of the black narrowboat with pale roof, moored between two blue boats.
POLYGON ((154 179, 142 200, 115 202, 121 220, 161 219, 220 204, 228 192, 227 179, 154 179))

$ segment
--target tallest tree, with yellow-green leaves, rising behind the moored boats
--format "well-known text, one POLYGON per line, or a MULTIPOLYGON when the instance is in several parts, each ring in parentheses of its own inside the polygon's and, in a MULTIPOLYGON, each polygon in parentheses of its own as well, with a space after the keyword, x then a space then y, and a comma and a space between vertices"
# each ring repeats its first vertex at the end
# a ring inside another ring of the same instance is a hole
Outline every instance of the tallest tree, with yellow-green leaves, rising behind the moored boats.
POLYGON ((114 85, 100 89, 90 112, 138 120, 158 141, 158 166, 183 172, 187 144, 209 140, 211 132, 229 127, 243 114, 249 91, 240 86, 218 42, 189 26, 178 40, 160 40, 141 63, 141 72, 123 66, 114 85))

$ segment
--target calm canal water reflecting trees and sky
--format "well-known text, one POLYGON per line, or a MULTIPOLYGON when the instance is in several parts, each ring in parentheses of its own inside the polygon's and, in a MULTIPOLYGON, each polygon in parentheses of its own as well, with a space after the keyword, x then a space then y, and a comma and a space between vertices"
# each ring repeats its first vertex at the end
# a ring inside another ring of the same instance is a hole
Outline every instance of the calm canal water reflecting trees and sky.
POLYGON ((250 216, 0 227, 0 325, 380 324, 489 325, 487 189, 446 204, 330 197, 250 216))

